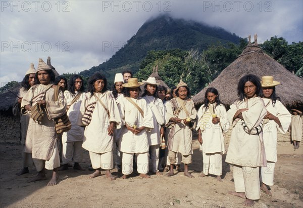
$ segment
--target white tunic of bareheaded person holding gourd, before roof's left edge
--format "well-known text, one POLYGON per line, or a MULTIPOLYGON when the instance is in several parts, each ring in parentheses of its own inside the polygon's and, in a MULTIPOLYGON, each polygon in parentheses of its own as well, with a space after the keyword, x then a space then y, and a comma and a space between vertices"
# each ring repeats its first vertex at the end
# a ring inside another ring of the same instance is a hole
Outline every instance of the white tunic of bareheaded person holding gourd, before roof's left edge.
MULTIPOLYGON (((209 125, 206 127, 205 131, 201 132, 203 144, 200 146, 204 153, 224 153, 225 151, 223 131, 226 132, 229 127, 229 125, 227 125, 227 112, 225 106, 222 104, 214 108, 215 114, 220 118, 220 122, 214 124, 212 122, 213 117, 210 116, 208 120, 209 125)), ((207 109, 207 112, 210 112, 210 108, 207 109)), ((196 130, 200 128, 205 113, 205 105, 202 105, 197 112, 198 122, 196 130)))

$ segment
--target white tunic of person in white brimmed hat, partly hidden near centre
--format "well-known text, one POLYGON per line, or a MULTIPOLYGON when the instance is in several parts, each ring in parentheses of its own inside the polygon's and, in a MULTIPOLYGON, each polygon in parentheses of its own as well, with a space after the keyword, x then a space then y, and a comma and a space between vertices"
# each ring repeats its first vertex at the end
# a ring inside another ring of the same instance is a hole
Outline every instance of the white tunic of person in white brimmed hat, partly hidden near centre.
MULTIPOLYGON (((154 96, 144 96, 142 97, 150 109, 152 109, 153 105, 158 105, 159 109, 161 109, 161 112, 163 117, 165 116, 165 107, 163 105, 163 102, 160 98, 155 98, 154 96)), ((153 110, 151 110, 153 111, 153 110)), ((154 129, 152 129, 150 132, 147 133, 147 138, 148 138, 148 145, 158 145, 160 144, 160 129, 161 125, 157 122, 155 112, 153 112, 153 117, 154 117, 154 129)))

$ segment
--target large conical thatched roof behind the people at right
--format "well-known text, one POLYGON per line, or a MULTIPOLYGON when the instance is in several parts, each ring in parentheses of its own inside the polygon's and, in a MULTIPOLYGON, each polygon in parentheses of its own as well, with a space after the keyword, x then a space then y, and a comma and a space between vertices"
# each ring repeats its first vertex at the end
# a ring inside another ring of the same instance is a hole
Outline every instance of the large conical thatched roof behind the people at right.
POLYGON ((281 98, 281 102, 288 107, 303 105, 303 80, 268 56, 256 43, 246 46, 234 62, 226 67, 208 87, 192 98, 195 105, 204 103, 205 92, 210 87, 219 91, 220 100, 225 105, 231 105, 238 99, 238 81, 245 74, 256 74, 260 78, 265 75, 274 76, 274 80, 281 82, 281 85, 276 86, 276 94, 281 98))

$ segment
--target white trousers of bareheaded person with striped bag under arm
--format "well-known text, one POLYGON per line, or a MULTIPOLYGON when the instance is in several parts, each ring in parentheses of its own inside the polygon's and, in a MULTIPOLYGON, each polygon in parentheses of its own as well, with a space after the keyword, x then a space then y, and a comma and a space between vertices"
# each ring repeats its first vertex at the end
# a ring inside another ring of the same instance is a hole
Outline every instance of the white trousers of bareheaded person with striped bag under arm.
POLYGON ((95 153, 89 152, 89 157, 91 161, 91 166, 93 169, 104 169, 112 170, 113 169, 113 151, 105 153, 95 153))

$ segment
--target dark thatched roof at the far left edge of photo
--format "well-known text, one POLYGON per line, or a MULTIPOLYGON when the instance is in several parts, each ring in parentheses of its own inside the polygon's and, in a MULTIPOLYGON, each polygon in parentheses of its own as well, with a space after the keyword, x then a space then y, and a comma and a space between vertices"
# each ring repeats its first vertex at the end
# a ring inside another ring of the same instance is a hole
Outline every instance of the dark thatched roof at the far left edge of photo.
MULTIPOLYGON (((16 95, 18 95, 19 89, 20 89, 20 84, 9 90, 15 93, 16 95)), ((14 94, 10 93, 7 90, 4 93, 0 94, 0 111, 12 111, 16 98, 17 97, 14 94)))

